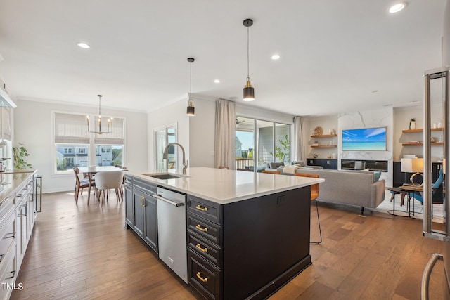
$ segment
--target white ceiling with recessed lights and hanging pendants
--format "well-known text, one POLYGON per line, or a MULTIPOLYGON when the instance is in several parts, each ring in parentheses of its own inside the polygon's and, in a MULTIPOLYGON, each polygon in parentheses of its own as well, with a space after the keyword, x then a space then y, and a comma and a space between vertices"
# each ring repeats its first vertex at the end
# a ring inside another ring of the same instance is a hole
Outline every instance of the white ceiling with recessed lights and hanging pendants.
POLYGON ((194 100, 242 103, 252 18, 246 105, 303 116, 404 106, 422 101, 423 71, 441 66, 446 0, 409 0, 395 15, 392 4, 0 0, 0 74, 15 98, 98 105, 101 93, 103 107, 150 112, 187 105, 192 56, 194 100))

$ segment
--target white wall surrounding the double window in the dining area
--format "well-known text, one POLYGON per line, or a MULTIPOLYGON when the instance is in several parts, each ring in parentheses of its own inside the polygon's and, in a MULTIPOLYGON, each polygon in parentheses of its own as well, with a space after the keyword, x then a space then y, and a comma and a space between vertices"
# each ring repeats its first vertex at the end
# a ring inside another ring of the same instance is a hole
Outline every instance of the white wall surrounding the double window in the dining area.
MULTIPOLYGON (((84 107, 65 103, 36 102, 16 100, 14 110, 14 145, 23 143, 30 152, 27 161, 41 175, 43 192, 53 193, 72 191, 75 187, 73 174, 51 175, 52 141, 52 110, 63 112, 81 112, 86 114, 98 113, 98 107, 84 107)), ((142 169, 147 167, 147 114, 144 112, 127 112, 124 110, 110 110, 102 107, 102 113, 115 117, 124 117, 126 139, 124 164, 128 169, 142 169)))

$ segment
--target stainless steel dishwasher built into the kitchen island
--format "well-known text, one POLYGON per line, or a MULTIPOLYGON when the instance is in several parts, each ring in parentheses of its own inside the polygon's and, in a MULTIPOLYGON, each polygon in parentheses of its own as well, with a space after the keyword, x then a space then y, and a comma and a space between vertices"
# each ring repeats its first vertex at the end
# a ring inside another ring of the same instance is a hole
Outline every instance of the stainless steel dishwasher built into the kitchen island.
POLYGON ((160 259, 188 283, 186 195, 159 186, 156 194, 160 259))

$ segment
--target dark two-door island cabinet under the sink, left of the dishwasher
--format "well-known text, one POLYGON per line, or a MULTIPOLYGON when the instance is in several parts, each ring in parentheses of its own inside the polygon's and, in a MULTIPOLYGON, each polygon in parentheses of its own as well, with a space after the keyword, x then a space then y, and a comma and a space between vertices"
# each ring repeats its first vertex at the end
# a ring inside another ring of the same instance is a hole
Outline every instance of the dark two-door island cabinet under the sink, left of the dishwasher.
POLYGON ((156 185, 125 176, 125 227, 133 228, 158 253, 156 185))

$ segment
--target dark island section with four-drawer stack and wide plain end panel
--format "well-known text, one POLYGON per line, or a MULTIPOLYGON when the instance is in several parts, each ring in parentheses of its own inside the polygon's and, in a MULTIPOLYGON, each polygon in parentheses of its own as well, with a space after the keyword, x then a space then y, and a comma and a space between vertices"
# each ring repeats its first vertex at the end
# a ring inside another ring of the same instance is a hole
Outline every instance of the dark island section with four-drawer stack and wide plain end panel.
POLYGON ((188 195, 188 282, 207 299, 275 292, 311 264, 309 195, 309 186, 229 204, 188 195))

